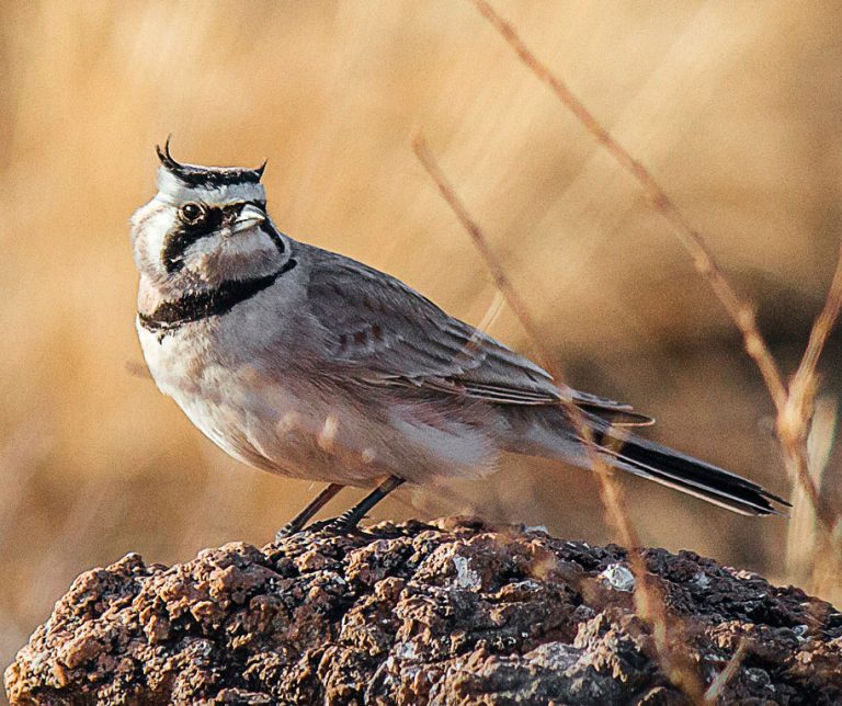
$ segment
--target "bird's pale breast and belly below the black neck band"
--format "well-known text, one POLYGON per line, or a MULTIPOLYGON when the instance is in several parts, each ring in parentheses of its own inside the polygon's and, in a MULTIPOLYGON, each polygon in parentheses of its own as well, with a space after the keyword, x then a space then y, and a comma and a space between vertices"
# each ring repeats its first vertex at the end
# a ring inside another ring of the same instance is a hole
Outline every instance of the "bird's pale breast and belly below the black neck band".
POLYGON ((475 425, 429 407, 417 419, 387 388, 314 379, 329 366, 312 348, 319 333, 276 304, 270 289, 164 334, 138 323, 159 389, 217 445, 258 468, 344 485, 489 468, 493 444, 475 425))

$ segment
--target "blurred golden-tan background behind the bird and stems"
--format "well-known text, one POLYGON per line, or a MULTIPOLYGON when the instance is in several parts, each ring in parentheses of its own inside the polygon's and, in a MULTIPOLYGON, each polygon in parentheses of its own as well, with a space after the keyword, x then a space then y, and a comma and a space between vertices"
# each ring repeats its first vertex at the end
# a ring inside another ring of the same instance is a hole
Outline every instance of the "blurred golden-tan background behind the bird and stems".
MULTIPOLYGON (((494 7, 705 234, 792 372, 842 234, 839 3, 494 7)), ((651 413, 653 439, 789 494, 772 405, 731 322, 639 187, 469 2, 1 8, 3 667, 79 572, 127 551, 169 563, 265 544, 318 490, 229 459, 145 374, 128 218, 155 192, 153 146, 170 133, 183 161, 268 158, 282 229, 477 324, 494 287, 412 153, 422 129, 570 384, 651 413)), ((505 307, 490 333, 535 353, 505 307)), ((834 335, 813 444, 831 494, 839 371, 834 335)), ((786 521, 623 486, 646 544, 799 580, 786 521)), ((613 538, 591 475, 524 458, 448 502, 410 491, 374 514, 457 512, 613 538)))

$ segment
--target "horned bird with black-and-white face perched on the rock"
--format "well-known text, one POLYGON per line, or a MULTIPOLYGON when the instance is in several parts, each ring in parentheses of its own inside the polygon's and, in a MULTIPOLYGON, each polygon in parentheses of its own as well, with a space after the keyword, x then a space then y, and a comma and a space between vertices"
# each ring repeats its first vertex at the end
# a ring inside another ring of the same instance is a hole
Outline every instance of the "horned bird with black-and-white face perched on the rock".
POLYGON ((578 391, 398 278, 281 231, 257 169, 177 161, 130 220, 136 328, 158 388, 236 459, 327 483, 278 536, 345 487, 478 478, 502 452, 610 465, 743 515, 781 497, 630 433, 652 420, 578 391), (578 423, 577 423, 578 421, 578 423), (590 437, 590 440, 588 439, 590 437))

